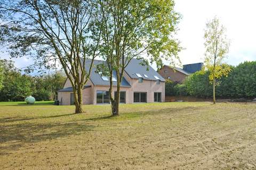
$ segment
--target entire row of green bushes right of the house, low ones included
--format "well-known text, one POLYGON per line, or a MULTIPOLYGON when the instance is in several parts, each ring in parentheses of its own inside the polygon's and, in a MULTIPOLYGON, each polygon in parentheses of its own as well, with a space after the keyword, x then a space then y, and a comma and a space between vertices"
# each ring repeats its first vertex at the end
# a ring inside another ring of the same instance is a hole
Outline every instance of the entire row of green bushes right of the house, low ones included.
MULTIPOLYGON (((209 71, 189 75, 183 84, 166 81, 167 96, 212 97, 209 71)), ((228 77, 217 80, 216 95, 221 98, 256 97, 256 62, 244 62, 234 67, 228 77)))

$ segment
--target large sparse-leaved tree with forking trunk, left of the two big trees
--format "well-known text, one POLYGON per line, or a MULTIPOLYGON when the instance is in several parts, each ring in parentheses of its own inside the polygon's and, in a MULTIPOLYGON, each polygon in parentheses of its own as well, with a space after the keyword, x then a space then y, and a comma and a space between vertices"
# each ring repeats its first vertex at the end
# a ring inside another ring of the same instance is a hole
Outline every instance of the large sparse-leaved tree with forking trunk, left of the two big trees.
POLYGON ((82 113, 82 89, 97 56, 100 32, 90 29, 90 0, 17 0, 0 2, 1 41, 12 57, 29 56, 39 66, 58 61, 71 82, 75 113, 82 113), (85 60, 92 59, 89 68, 85 60))

